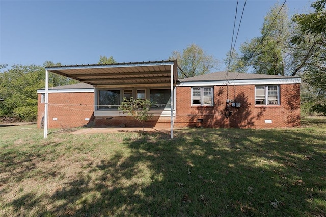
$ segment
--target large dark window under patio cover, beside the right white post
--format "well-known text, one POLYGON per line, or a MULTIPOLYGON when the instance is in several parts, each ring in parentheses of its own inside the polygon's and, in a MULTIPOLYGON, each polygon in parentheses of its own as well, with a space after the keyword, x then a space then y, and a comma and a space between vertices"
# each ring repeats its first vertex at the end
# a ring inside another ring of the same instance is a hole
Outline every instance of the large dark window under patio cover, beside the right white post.
POLYGON ((154 103, 153 108, 171 108, 170 89, 151 89, 149 99, 154 103))

